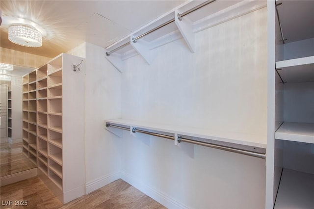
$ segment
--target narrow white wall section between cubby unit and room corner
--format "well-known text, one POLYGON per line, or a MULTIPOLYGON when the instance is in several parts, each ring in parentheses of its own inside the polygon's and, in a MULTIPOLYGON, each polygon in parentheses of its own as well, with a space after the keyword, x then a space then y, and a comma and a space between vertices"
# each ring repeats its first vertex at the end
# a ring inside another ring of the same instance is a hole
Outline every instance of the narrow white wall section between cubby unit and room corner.
POLYGON ((121 117, 121 74, 102 47, 86 43, 86 192, 120 178, 121 139, 105 131, 105 118, 121 117))

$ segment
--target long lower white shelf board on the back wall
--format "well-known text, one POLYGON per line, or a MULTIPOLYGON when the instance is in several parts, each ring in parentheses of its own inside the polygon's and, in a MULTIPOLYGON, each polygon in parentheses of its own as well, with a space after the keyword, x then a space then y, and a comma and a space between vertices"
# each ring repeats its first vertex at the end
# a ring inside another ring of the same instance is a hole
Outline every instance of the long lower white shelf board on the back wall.
POLYGON ((217 131, 210 129, 199 129, 194 127, 183 127, 176 125, 159 124, 154 122, 142 122, 126 119, 105 120, 105 122, 116 125, 132 126, 141 129, 177 133, 179 135, 199 137, 203 139, 216 140, 239 145, 266 148, 266 139, 260 135, 230 131, 217 131), (252 139, 254 139, 254 141, 252 141, 252 139))

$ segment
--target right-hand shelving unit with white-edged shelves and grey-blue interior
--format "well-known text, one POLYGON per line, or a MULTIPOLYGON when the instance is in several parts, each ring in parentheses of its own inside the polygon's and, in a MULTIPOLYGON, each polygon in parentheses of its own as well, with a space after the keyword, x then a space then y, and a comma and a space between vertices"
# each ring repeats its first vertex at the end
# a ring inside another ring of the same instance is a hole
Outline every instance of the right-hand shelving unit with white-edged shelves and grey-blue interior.
MULTIPOLYGON (((284 45, 276 46, 276 116, 283 123, 275 132, 275 166, 282 170, 275 209, 314 206, 314 33, 308 30, 314 15, 306 13, 310 6, 313 2, 283 1, 277 6, 282 30, 288 33, 284 45), (290 20, 298 15, 304 19, 290 20)), ((278 19, 276 27, 280 31, 278 19)))

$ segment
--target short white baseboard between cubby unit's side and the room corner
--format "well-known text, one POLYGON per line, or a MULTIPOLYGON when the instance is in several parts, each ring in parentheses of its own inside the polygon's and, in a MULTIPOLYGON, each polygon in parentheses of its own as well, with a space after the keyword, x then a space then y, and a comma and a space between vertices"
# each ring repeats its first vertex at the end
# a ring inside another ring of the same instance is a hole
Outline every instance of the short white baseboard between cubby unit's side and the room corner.
POLYGON ((89 194, 92 191, 95 191, 96 189, 99 189, 107 185, 108 183, 114 182, 118 179, 120 179, 120 172, 108 174, 92 182, 86 183, 86 194, 89 194))

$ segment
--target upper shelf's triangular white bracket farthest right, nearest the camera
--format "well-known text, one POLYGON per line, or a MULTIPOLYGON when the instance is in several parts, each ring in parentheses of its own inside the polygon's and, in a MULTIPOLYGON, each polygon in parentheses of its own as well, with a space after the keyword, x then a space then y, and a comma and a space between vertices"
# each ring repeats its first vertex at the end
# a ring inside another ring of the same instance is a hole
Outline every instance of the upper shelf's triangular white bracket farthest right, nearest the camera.
POLYGON ((193 32, 193 23, 187 17, 181 17, 181 13, 175 11, 175 24, 181 32, 183 39, 189 50, 195 52, 195 38, 193 32))

